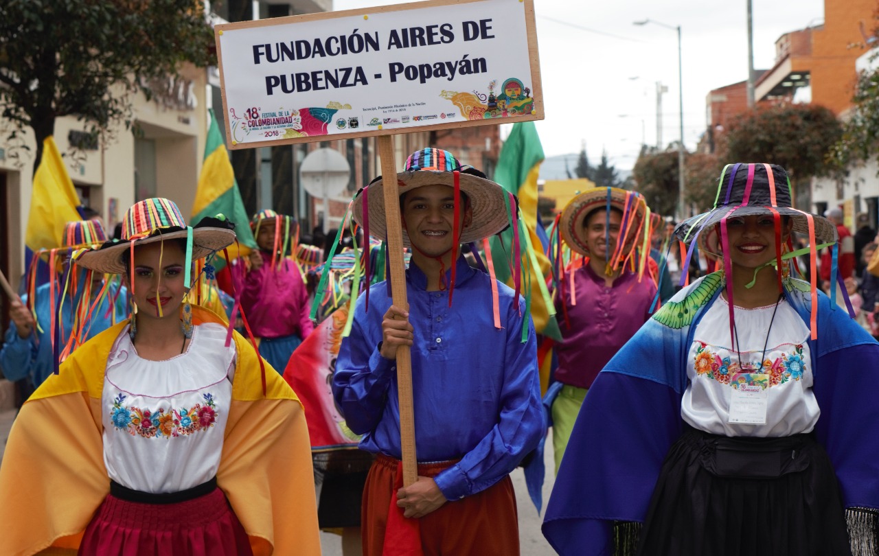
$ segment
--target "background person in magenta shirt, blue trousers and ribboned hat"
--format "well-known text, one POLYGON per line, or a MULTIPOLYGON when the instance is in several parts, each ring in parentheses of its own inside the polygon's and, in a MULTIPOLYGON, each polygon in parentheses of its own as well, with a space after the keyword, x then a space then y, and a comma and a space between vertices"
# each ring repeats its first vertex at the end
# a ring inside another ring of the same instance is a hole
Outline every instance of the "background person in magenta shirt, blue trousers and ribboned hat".
POLYGON ((251 251, 250 268, 234 267, 243 285, 241 307, 259 341, 259 354, 284 372, 290 354, 309 336, 309 292, 301 271, 288 256, 296 248, 295 220, 272 210, 251 220, 258 250, 251 251))

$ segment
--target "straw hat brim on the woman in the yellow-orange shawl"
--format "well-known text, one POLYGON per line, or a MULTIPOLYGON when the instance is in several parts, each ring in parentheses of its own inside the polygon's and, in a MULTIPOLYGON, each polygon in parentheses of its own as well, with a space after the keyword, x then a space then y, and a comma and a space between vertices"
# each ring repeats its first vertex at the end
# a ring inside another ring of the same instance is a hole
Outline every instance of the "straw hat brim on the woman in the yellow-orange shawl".
MULTIPOLYGON (((179 230, 168 234, 153 235, 146 239, 136 240, 134 246, 147 245, 149 243, 185 239, 186 231, 179 230)), ((235 232, 222 227, 196 227, 193 228, 193 261, 204 258, 211 253, 222 250, 235 241, 235 232)), ((113 247, 105 249, 92 249, 83 253, 76 259, 76 264, 91 269, 92 271, 105 274, 124 274, 125 265, 122 264, 122 256, 128 252, 131 242, 119 242, 113 247)))

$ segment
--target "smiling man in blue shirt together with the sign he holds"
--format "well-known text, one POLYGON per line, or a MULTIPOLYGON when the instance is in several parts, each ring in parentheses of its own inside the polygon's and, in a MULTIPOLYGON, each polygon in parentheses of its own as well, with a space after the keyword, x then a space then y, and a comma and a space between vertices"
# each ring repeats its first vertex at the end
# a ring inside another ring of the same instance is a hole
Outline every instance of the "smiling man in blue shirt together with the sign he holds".
POLYGON ((435 0, 215 30, 229 148, 375 136, 381 173, 397 175, 398 186, 377 179, 355 202, 364 233, 388 243, 389 281, 358 300, 334 378, 361 447, 382 455, 364 494, 365 553, 518 554, 507 475, 542 427, 525 274, 512 292, 460 256, 461 243, 517 220, 517 203, 445 151, 418 151, 397 174, 392 140, 542 119, 533 0, 435 0), (369 296, 377 307, 367 311, 369 296), (419 525, 421 541, 394 537, 419 525))

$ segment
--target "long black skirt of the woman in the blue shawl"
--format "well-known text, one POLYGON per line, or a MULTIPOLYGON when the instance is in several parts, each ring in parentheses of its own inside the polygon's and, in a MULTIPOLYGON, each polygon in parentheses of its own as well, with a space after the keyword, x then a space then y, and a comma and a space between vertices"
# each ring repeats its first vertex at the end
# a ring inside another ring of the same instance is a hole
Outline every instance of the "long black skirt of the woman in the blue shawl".
POLYGON ((641 556, 850 556, 836 474, 811 435, 689 429, 665 457, 641 556))

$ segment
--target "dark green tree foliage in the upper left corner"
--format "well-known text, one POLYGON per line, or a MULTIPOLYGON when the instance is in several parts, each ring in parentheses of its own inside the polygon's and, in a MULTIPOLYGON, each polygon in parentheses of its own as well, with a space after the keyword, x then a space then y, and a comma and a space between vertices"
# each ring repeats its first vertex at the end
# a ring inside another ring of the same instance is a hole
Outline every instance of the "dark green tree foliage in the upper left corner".
POLYGON ((132 95, 184 62, 215 62, 200 0, 4 0, 0 2, 0 114, 37 140, 55 119, 76 116, 95 137, 131 126, 132 95))

